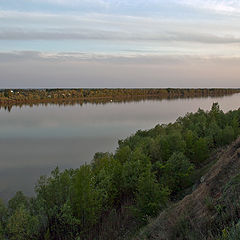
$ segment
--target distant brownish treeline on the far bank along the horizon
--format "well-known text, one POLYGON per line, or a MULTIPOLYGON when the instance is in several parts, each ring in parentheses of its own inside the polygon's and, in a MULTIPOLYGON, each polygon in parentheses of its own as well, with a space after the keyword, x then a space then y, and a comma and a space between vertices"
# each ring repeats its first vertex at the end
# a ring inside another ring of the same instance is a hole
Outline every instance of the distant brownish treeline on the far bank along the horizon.
POLYGON ((240 92, 240 89, 3 89, 0 90, 0 105, 19 103, 46 103, 97 98, 119 99, 157 96, 159 98, 224 96, 240 92))

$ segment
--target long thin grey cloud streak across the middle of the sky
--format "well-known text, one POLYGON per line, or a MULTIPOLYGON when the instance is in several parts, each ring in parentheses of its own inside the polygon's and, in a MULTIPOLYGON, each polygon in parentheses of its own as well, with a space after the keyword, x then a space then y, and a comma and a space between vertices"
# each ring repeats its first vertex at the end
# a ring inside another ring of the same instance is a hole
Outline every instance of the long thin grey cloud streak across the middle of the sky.
POLYGON ((217 36, 210 33, 166 31, 148 33, 90 29, 48 29, 35 31, 10 29, 0 31, 0 40, 118 40, 118 41, 158 41, 158 42, 199 42, 209 44, 240 43, 240 37, 217 36))

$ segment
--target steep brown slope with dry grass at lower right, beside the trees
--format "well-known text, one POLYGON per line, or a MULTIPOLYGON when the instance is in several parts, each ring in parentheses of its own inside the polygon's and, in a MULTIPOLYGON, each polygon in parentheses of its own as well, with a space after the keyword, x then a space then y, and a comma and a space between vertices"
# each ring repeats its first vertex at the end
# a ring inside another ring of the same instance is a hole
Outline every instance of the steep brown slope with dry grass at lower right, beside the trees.
POLYGON ((135 240, 216 239, 227 235, 228 227, 240 218, 239 173, 240 138, 228 146, 195 191, 162 212, 135 240))

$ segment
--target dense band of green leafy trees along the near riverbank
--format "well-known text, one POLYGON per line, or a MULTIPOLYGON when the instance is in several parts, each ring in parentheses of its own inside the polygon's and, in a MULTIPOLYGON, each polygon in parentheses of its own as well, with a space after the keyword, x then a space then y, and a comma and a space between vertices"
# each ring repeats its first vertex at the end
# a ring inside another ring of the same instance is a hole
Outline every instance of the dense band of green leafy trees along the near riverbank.
POLYGON ((210 154, 239 135, 240 109, 223 113, 217 103, 138 131, 114 154, 96 153, 89 165, 41 177, 34 198, 18 192, 0 204, 0 238, 126 239, 184 196, 210 154))

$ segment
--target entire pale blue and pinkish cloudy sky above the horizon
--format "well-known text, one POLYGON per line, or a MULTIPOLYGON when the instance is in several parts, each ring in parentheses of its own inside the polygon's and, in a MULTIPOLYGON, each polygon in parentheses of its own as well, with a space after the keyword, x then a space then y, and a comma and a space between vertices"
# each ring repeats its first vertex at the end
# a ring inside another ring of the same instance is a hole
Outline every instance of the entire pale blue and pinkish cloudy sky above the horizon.
POLYGON ((239 88, 239 26, 239 0, 0 0, 0 88, 239 88))

